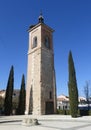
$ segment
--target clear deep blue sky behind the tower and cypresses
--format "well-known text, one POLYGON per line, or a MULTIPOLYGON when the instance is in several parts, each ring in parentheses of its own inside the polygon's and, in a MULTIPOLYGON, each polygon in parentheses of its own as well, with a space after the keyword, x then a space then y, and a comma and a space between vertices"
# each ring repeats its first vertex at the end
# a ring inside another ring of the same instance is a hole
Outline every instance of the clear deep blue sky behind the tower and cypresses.
POLYGON ((68 95, 68 53, 72 51, 79 95, 91 80, 91 0, 0 0, 0 90, 5 89, 11 65, 14 86, 27 73, 28 32, 42 10, 52 27, 57 95, 68 95))

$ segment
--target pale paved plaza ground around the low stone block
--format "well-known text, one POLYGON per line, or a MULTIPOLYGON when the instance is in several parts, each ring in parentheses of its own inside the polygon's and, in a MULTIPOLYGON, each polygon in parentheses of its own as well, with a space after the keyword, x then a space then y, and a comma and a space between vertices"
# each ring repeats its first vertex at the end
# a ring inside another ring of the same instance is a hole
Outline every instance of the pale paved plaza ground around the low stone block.
POLYGON ((91 130, 91 116, 0 116, 0 130, 91 130), (24 118, 37 118, 40 125, 24 126, 24 118))

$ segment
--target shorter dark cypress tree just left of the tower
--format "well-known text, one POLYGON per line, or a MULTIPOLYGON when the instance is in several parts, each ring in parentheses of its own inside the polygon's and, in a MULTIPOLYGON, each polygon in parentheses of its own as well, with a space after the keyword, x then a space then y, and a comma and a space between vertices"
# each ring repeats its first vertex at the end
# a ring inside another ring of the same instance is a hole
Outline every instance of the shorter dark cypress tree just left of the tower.
POLYGON ((19 104, 18 104, 18 113, 19 115, 23 115, 25 112, 25 78, 24 74, 22 75, 21 81, 21 89, 19 95, 19 104))

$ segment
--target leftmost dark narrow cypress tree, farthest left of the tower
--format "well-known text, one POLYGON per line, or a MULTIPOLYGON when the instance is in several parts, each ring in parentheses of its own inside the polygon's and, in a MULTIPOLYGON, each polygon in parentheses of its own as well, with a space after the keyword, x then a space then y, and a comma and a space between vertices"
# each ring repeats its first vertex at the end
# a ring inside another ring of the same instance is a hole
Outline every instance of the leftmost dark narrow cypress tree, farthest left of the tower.
POLYGON ((14 68, 13 68, 13 66, 11 66, 8 83, 7 83, 7 88, 6 88, 5 102, 4 102, 5 115, 10 115, 12 113, 13 88, 14 88, 14 68))

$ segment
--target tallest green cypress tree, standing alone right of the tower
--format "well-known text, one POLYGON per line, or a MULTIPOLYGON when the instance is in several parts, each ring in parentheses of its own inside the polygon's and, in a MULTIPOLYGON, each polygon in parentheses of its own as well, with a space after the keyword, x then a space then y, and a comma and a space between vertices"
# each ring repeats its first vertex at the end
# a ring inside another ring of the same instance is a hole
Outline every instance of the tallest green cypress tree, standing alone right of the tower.
POLYGON ((78 89, 77 89, 77 82, 76 82, 75 67, 74 67, 74 62, 73 62, 71 51, 69 52, 68 64, 69 64, 68 89, 69 89, 69 100, 70 100, 70 112, 71 112, 72 117, 77 117, 78 89))

